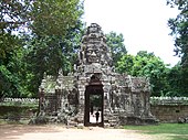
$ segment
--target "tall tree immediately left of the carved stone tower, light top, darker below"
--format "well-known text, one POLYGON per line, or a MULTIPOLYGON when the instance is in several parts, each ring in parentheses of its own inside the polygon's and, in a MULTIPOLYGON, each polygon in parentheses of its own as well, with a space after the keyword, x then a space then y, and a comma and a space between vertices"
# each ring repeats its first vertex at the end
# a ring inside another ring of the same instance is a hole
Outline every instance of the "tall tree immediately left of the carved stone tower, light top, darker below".
POLYGON ((60 68, 64 74, 73 69, 83 30, 82 13, 79 0, 38 0, 33 3, 32 39, 24 39, 29 40, 25 61, 32 75, 30 91, 38 91, 44 72, 56 76, 60 68))

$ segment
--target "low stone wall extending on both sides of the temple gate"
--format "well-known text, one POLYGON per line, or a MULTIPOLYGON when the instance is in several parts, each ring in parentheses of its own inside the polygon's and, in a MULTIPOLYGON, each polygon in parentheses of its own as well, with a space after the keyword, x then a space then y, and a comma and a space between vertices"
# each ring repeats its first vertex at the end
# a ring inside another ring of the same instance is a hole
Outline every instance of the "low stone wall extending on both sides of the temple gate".
MULTIPOLYGON (((38 99, 6 98, 0 101, 0 119, 31 118, 38 103, 38 99)), ((179 118, 188 118, 188 98, 152 97, 150 111, 160 122, 178 122, 179 118)))

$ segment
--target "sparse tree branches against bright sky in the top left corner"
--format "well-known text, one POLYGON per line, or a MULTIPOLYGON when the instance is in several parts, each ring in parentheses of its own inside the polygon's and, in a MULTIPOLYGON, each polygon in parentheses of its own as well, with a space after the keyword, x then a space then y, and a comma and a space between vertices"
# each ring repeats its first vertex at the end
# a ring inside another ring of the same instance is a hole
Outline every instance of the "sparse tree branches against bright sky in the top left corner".
POLYGON ((18 36, 14 31, 23 28, 30 21, 31 2, 33 0, 1 0, 0 4, 0 58, 14 50, 18 36), (14 40, 15 39, 15 40, 14 40), (15 43, 14 43, 15 42, 15 43))

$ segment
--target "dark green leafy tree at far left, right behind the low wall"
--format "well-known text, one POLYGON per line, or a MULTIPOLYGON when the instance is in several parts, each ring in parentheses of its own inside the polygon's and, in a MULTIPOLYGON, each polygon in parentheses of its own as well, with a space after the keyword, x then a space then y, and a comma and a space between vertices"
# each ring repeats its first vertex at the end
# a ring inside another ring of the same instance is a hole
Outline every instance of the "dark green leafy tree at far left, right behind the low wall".
POLYGON ((0 97, 21 97, 23 93, 27 95, 21 80, 24 75, 23 50, 19 47, 21 44, 17 45, 17 50, 7 52, 7 57, 0 61, 0 97))

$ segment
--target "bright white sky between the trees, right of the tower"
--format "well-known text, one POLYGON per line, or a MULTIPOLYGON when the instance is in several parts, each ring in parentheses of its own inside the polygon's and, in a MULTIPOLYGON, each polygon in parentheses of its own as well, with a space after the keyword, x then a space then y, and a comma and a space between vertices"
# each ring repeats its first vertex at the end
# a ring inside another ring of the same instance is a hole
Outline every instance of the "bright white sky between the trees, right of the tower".
POLYGON ((87 26, 97 23, 104 33, 122 33, 128 54, 154 52, 171 66, 180 60, 174 56, 174 37, 167 25, 178 10, 166 6, 166 0, 85 0, 84 11, 87 26))

